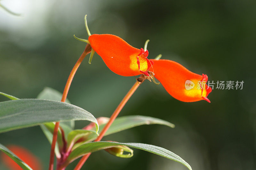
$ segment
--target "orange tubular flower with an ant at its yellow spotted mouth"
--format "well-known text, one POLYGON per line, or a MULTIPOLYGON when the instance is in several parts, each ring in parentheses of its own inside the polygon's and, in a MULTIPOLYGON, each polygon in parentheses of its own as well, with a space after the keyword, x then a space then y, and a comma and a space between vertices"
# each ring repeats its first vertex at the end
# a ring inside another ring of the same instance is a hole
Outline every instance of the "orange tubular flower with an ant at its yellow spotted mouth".
POLYGON ((92 34, 88 40, 108 68, 118 75, 148 75, 148 69, 154 64, 147 58, 148 50, 134 48, 116 35, 92 34))

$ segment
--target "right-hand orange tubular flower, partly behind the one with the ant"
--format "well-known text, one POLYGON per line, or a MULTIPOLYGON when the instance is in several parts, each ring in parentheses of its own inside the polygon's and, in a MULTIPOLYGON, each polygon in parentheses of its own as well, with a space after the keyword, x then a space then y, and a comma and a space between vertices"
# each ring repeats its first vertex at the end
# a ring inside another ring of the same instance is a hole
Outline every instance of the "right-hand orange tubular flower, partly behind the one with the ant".
MULTIPOLYGON (((184 102, 206 100, 212 88, 206 85, 206 74, 199 75, 171 60, 154 61, 154 73, 165 90, 175 99, 184 102)), ((150 70, 153 71, 151 68, 150 70)))

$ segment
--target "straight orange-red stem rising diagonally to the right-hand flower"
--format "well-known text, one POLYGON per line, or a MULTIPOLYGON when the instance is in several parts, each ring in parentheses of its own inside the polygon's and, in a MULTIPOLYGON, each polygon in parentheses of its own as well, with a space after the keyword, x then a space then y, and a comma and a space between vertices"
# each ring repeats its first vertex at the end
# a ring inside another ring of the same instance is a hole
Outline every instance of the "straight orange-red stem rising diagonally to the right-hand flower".
MULTIPOLYGON (((130 99, 130 97, 132 96, 132 94, 136 91, 136 89, 139 87, 139 83, 136 82, 132 88, 129 90, 129 92, 124 96, 124 99, 121 101, 121 103, 117 106, 116 110, 114 111, 114 113, 111 115, 108 123, 105 125, 105 127, 102 129, 102 131, 100 132, 100 135, 97 137, 97 139, 94 142, 98 142, 102 139, 102 137, 104 136, 104 134, 107 132, 108 128, 110 127, 110 125, 114 122, 114 120, 116 119, 117 115, 120 113, 120 111, 122 110, 122 108, 124 107, 124 105, 126 104, 126 102, 130 99)), ((80 170, 81 167, 84 165, 84 162, 88 159, 88 157, 91 155, 91 153, 88 153, 86 155, 83 156, 82 159, 80 159, 80 161, 78 162, 78 164, 76 165, 74 170, 80 170)))

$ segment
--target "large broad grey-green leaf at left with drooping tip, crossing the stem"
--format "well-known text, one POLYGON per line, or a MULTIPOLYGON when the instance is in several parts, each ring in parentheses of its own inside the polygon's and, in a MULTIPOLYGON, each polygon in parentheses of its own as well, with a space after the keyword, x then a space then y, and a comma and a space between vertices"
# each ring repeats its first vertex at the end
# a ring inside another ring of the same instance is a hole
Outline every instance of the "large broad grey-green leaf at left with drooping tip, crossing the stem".
POLYGON ((40 125, 45 122, 88 120, 98 122, 86 110, 59 101, 20 99, 0 102, 0 132, 40 125))

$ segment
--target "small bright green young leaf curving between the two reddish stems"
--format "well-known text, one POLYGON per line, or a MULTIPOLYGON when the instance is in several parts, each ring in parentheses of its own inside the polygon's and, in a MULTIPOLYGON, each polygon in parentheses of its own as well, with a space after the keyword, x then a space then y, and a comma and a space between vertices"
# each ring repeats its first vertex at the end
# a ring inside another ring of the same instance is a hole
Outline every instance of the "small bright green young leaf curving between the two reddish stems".
POLYGON ((78 139, 81 137, 88 136, 88 134, 96 134, 96 131, 94 130, 84 130, 84 129, 76 129, 71 131, 68 134, 68 140, 67 140, 67 151, 70 151, 73 147, 73 145, 76 143, 78 139))

